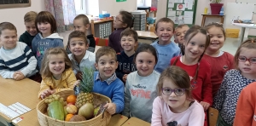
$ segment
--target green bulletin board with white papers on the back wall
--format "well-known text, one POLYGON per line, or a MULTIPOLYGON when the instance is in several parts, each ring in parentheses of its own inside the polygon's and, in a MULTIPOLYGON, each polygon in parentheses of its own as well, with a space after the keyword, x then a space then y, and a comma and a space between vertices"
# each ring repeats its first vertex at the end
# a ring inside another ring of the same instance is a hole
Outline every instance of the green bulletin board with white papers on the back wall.
POLYGON ((194 26, 197 0, 167 0, 166 17, 175 26, 187 24, 194 26))

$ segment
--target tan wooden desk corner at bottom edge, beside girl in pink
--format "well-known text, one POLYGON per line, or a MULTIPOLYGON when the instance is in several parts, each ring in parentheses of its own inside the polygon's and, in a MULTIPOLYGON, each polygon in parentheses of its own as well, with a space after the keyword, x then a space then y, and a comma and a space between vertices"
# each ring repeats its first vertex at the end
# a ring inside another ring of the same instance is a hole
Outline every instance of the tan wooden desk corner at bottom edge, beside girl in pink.
POLYGON ((122 126, 150 126, 151 124, 145 122, 137 117, 131 117, 122 126))

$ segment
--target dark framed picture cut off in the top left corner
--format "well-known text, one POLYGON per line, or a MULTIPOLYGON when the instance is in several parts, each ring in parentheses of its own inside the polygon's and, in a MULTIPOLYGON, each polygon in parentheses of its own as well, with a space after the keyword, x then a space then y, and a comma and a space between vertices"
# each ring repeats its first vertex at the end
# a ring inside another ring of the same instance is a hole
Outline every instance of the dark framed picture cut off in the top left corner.
POLYGON ((30 7, 31 0, 0 0, 0 9, 30 7))

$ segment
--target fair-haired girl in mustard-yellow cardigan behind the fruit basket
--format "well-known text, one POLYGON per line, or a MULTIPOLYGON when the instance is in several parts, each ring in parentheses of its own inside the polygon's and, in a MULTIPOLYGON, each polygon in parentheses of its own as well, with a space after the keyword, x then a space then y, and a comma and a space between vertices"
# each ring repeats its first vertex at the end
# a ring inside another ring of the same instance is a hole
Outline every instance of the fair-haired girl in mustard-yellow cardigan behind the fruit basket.
POLYGON ((38 97, 44 99, 49 94, 62 90, 73 90, 77 79, 72 71, 72 63, 65 49, 53 48, 45 52, 42 60, 42 82, 38 97))

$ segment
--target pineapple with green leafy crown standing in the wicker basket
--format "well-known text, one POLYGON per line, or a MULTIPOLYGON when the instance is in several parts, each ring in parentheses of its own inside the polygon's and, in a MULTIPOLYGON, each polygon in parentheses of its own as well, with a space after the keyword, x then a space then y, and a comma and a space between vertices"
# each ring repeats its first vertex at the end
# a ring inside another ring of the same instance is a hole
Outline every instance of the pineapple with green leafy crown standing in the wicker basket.
POLYGON ((77 95, 76 106, 80 108, 85 103, 93 104, 93 76, 94 69, 84 67, 82 81, 78 85, 79 94, 77 95))

